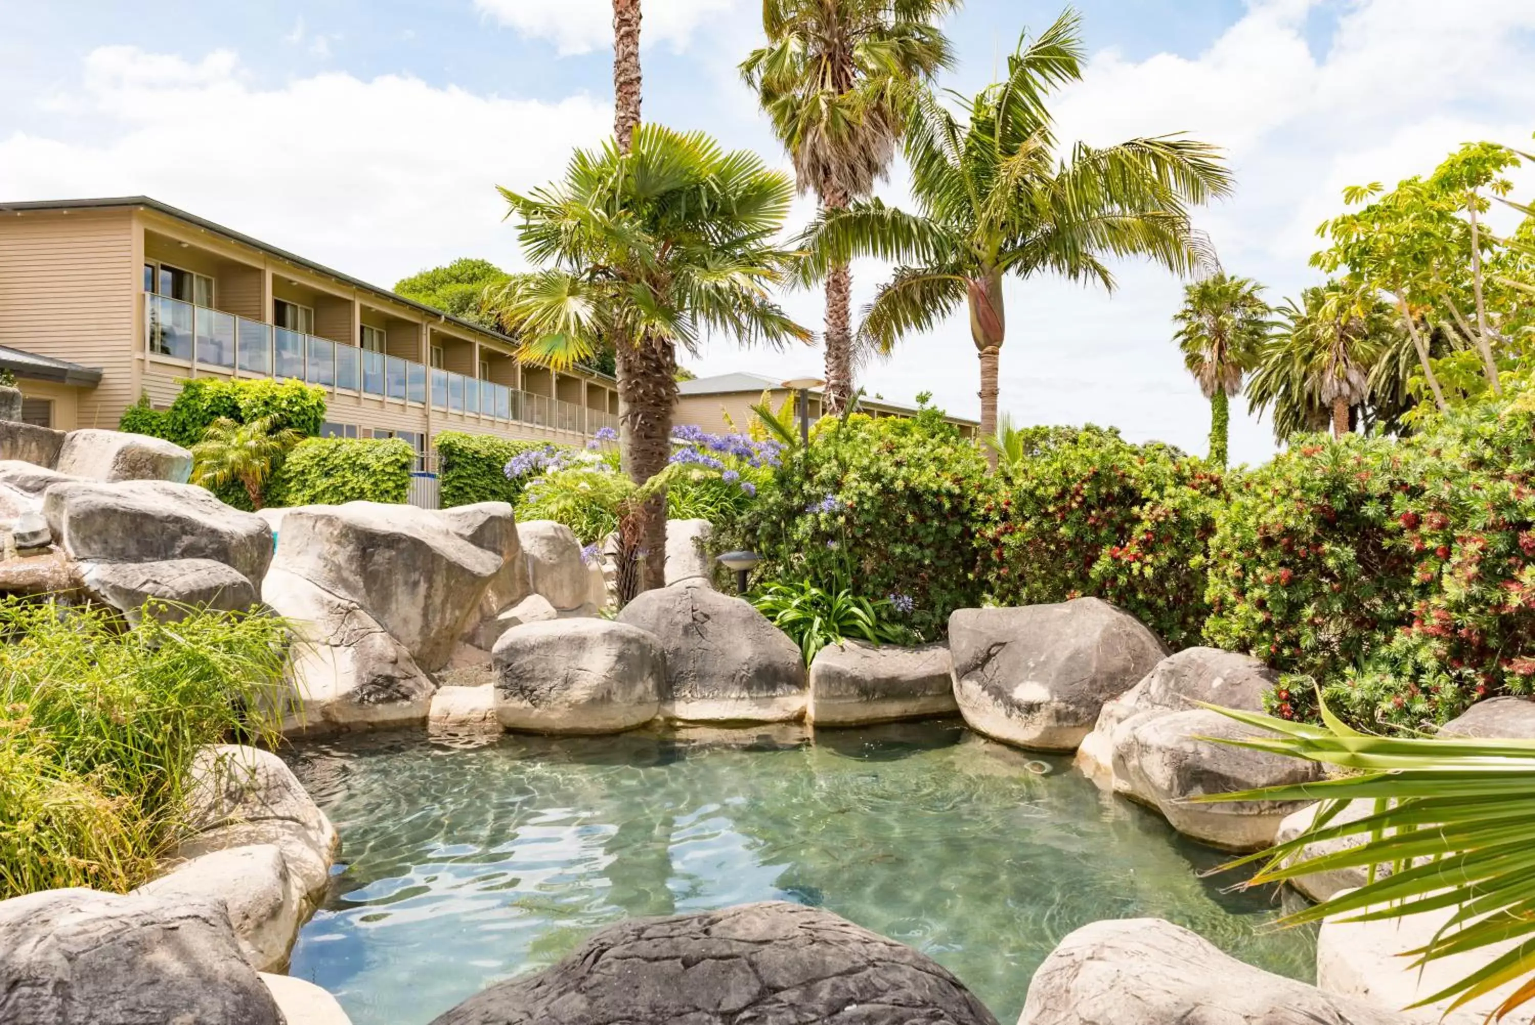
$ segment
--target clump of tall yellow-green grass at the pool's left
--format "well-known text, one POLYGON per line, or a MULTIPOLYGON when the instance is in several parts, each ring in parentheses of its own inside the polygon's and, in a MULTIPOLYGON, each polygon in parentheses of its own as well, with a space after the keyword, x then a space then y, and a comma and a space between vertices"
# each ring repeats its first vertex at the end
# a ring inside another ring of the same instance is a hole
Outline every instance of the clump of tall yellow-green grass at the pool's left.
POLYGON ((0 599, 0 897, 129 890, 175 844, 200 747, 272 744, 284 621, 0 599))

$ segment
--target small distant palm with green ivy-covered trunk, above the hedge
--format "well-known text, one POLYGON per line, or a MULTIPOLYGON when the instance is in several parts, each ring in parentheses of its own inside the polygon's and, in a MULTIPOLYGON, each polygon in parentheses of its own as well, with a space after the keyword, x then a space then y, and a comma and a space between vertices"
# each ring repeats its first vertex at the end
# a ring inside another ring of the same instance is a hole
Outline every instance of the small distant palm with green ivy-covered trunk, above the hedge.
POLYGON ((1242 378, 1268 335, 1271 310, 1262 290, 1251 278, 1219 270, 1183 289, 1183 307, 1173 318, 1183 366, 1210 400, 1210 461, 1216 466, 1226 464, 1230 400, 1242 392, 1242 378))

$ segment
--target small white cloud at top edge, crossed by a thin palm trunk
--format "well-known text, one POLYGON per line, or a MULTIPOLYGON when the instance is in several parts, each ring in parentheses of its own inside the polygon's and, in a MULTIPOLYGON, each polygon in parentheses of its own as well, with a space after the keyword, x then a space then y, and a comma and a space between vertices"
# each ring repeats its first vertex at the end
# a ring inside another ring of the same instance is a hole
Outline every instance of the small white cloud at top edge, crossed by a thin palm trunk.
MULTIPOLYGON (((523 35, 546 38, 560 55, 612 46, 612 0, 474 0, 474 6, 523 35)), ((720 18, 738 0, 665 0, 643 6, 640 45, 686 46, 701 25, 720 18)))

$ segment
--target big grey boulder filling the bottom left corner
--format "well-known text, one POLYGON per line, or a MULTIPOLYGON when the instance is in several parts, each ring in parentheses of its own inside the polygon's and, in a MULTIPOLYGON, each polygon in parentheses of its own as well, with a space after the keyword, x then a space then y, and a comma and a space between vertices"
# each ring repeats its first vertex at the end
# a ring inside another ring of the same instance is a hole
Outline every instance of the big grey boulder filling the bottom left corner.
POLYGON ((0 902, 0 1020, 282 1025, 218 902, 45 890, 0 902))

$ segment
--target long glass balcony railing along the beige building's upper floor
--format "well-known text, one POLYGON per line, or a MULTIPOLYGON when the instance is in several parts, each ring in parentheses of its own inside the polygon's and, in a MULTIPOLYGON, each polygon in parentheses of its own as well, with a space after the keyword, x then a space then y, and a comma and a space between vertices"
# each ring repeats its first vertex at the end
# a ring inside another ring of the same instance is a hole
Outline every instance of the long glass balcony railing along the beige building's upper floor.
POLYGON ((235 317, 166 295, 144 294, 149 355, 367 395, 482 420, 596 433, 617 418, 548 395, 522 392, 330 338, 235 317))

